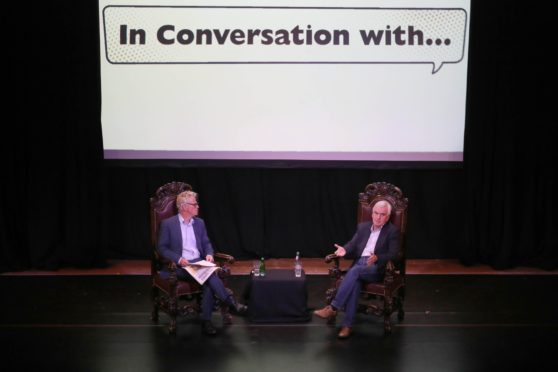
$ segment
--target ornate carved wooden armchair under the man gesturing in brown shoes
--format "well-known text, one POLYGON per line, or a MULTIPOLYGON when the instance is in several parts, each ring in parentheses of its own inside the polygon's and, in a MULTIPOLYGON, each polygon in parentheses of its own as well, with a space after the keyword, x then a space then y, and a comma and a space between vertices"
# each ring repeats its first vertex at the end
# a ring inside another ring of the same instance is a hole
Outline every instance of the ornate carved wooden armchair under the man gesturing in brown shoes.
MULTIPOLYGON (((405 238, 407 232, 408 200, 401 190, 387 182, 375 182, 366 186, 358 196, 357 223, 370 221, 372 207, 380 200, 388 201, 392 206, 390 221, 401 230, 401 241, 398 257, 389 261, 384 279, 379 283, 365 283, 361 290, 358 312, 373 314, 384 318, 384 331, 391 332, 391 315, 397 311, 397 318, 402 321, 405 312, 405 238)), ((339 287, 345 271, 340 269, 340 258, 330 254, 326 263, 332 264, 329 269, 331 288, 326 292, 326 303, 330 304, 339 287)), ((329 323, 335 319, 329 319, 329 323)))

